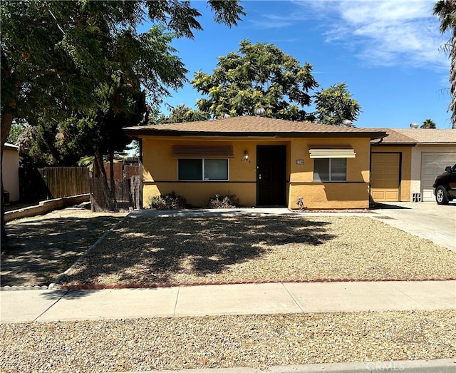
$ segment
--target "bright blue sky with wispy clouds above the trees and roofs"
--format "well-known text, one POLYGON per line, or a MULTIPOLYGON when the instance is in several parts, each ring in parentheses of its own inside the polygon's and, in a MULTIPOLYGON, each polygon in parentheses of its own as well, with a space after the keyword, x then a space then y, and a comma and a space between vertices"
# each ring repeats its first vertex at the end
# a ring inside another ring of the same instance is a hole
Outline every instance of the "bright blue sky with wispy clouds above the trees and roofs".
MULTIPOLYGON (((192 1, 204 31, 173 46, 191 80, 212 73, 219 56, 238 51, 239 41, 266 42, 314 66, 319 87, 345 82, 361 104, 357 127, 409 128, 426 118, 451 128, 450 63, 432 16, 435 0, 242 1, 247 12, 237 27, 215 24, 206 1, 192 1)), ((172 92, 171 106, 195 107, 202 95, 190 83, 172 92)), ((311 108, 307 110, 311 111, 311 108)))

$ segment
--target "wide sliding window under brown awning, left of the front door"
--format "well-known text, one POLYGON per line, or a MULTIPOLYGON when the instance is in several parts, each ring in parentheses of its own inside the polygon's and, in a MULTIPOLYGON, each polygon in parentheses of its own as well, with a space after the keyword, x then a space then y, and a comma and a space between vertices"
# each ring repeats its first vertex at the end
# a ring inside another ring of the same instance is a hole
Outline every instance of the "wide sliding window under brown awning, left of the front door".
POLYGON ((228 180, 227 159, 180 159, 179 180, 228 180))

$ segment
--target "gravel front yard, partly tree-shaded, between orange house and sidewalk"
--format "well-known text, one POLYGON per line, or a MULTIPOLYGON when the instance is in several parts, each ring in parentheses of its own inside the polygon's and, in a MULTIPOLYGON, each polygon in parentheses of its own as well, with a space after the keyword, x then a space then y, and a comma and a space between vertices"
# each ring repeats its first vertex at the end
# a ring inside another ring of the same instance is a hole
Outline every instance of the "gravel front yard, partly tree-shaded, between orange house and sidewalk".
POLYGON ((128 217, 63 285, 447 280, 456 252, 369 217, 128 217))

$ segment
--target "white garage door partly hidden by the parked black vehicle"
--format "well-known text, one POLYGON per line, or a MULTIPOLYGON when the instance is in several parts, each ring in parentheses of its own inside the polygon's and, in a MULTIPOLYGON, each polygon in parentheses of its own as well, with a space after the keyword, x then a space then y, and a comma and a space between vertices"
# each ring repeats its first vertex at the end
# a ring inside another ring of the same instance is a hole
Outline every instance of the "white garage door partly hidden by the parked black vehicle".
POLYGON ((423 201, 434 200, 432 184, 435 176, 445 171, 447 165, 456 163, 456 153, 422 153, 421 154, 421 193, 423 201))

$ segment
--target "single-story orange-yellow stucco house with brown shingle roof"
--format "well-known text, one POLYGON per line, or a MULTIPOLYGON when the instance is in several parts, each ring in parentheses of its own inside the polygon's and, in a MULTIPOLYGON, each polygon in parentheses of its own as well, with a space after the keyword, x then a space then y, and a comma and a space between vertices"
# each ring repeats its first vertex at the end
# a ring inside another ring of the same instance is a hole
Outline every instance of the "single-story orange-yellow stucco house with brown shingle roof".
POLYGON ((378 128, 242 116, 124 128, 141 140, 143 200, 175 192, 204 206, 214 194, 244 206, 368 208, 378 128))

